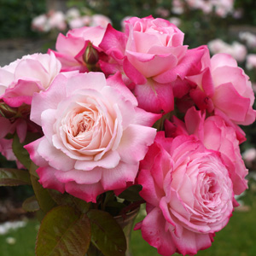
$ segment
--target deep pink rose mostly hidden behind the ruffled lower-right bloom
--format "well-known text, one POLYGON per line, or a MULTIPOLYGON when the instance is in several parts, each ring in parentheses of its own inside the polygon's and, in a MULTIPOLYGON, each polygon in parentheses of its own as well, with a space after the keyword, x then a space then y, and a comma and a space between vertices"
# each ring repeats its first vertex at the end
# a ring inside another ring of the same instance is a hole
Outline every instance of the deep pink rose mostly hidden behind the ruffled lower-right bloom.
POLYGON ((221 159, 230 173, 233 190, 240 195, 247 189, 248 170, 241 159, 239 141, 233 127, 225 124, 219 116, 210 116, 206 119, 206 113, 189 108, 185 115, 185 123, 174 119, 173 123, 166 122, 166 134, 195 135, 207 149, 218 151, 221 159), (174 129, 175 127, 175 129, 174 129))

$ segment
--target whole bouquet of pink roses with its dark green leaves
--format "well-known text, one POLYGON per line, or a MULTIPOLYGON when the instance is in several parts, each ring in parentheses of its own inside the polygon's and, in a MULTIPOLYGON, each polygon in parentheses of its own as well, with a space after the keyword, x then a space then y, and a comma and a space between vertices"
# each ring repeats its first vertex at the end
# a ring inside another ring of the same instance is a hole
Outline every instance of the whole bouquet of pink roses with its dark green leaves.
POLYGON ((228 223, 247 189, 239 125, 255 120, 252 85, 230 55, 183 36, 132 17, 125 32, 73 29, 1 67, 1 152, 19 169, 0 183, 32 185, 38 256, 125 255, 141 204, 135 230, 161 255, 194 255, 228 223))

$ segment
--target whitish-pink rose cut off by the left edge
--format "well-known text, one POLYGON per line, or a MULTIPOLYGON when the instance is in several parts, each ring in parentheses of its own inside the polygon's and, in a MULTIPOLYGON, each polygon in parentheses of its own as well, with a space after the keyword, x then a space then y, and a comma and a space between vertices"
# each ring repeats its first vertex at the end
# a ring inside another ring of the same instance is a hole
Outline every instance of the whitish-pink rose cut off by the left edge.
POLYGON ((0 98, 10 107, 30 105, 33 93, 46 90, 60 70, 61 62, 52 53, 25 55, 0 67, 0 98))

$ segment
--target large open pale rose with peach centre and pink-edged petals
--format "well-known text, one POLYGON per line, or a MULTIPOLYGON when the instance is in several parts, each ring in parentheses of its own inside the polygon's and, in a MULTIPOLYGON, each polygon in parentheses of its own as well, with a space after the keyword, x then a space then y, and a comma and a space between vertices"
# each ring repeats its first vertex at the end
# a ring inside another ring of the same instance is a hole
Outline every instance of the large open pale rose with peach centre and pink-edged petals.
POLYGON ((120 74, 59 75, 49 90, 36 94, 31 119, 44 137, 26 145, 39 166, 39 182, 84 201, 134 182, 139 161, 154 142, 160 116, 137 108, 120 74))

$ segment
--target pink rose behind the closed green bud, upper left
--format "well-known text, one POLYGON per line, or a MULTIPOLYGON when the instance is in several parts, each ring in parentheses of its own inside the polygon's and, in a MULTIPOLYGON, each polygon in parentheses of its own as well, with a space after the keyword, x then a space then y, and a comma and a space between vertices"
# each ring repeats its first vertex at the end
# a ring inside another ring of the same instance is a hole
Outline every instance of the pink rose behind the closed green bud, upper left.
POLYGON ((84 62, 84 51, 88 44, 100 51, 98 45, 102 42, 106 29, 100 26, 84 26, 75 28, 67 32, 67 36, 59 34, 56 41, 56 51, 49 49, 61 61, 61 71, 69 72, 79 70, 79 72, 88 72, 84 62))

